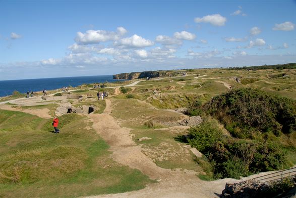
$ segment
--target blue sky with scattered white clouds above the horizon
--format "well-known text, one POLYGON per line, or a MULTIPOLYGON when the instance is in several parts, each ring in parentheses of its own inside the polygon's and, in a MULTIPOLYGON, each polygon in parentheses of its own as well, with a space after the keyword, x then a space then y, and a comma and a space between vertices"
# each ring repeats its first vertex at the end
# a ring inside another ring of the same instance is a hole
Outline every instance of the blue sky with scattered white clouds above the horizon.
POLYGON ((295 24, 295 0, 0 0, 0 80, 291 63, 295 24))

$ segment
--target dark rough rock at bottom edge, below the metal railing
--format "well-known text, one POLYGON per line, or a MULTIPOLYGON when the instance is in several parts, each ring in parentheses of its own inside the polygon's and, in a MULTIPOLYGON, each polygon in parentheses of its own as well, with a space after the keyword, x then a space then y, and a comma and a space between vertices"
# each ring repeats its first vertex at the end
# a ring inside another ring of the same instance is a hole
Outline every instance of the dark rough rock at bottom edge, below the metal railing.
POLYGON ((234 184, 226 183, 225 189, 222 191, 220 197, 261 197, 261 195, 264 194, 264 191, 266 191, 267 188, 268 184, 255 180, 247 180, 234 184))

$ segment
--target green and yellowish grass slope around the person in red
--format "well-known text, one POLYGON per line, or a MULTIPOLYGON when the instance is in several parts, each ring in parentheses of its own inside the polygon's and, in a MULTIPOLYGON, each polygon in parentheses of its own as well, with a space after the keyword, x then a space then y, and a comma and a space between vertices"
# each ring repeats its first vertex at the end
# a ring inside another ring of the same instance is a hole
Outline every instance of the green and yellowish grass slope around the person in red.
POLYGON ((114 162, 86 117, 62 116, 58 128, 61 133, 54 134, 51 119, 0 111, 1 197, 117 193, 152 182, 114 162))

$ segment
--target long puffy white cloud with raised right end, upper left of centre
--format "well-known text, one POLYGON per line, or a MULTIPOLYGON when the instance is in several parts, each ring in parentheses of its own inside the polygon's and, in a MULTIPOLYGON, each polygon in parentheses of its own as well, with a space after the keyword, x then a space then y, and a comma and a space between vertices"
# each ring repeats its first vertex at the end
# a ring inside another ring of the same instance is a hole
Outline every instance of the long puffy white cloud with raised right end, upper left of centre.
POLYGON ((105 30, 88 30, 86 33, 77 32, 75 41, 79 44, 94 44, 105 41, 119 40, 127 30, 123 27, 117 28, 116 32, 105 30))

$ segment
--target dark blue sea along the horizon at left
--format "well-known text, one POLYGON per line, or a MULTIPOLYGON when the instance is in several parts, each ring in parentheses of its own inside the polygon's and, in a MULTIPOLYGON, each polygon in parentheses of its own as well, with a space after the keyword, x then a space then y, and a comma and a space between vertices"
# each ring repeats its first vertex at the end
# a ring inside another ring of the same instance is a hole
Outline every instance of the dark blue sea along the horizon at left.
POLYGON ((14 90, 21 93, 27 91, 41 91, 58 89, 69 86, 78 86, 89 83, 105 83, 119 81, 113 79, 112 75, 97 75, 97 76, 75 76, 75 77, 60 77, 60 78, 40 78, 40 79, 25 79, 25 80, 0 80, 0 96, 12 95, 14 90))

